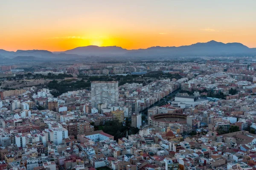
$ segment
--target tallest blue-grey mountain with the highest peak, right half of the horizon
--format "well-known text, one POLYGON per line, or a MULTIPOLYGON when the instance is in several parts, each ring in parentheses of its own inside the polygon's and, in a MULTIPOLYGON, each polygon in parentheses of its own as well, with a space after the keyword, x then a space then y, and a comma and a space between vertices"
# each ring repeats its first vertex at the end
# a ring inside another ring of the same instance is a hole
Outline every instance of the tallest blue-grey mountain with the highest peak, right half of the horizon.
POLYGON ((244 56, 256 55, 256 49, 248 48, 241 43, 209 41, 198 42, 180 47, 150 47, 147 49, 131 50, 130 56, 244 56))

